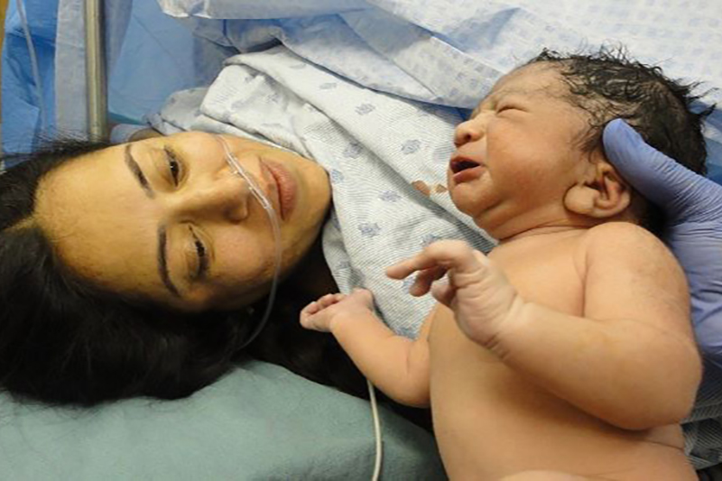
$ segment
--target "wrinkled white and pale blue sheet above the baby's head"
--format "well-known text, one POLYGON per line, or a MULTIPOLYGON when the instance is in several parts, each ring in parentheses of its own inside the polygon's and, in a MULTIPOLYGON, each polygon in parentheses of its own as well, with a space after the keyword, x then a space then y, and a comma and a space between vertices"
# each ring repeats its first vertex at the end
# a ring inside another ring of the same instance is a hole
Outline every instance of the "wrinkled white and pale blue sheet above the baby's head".
MULTIPOLYGON (((474 106, 496 79, 542 47, 623 43, 635 59, 671 77, 722 86, 717 0, 158 2, 213 42, 251 51, 278 39, 366 87, 446 106, 474 106)), ((720 91, 707 96, 708 103, 720 100, 720 91)), ((709 119, 706 136, 709 176, 722 181, 722 112, 709 119)))

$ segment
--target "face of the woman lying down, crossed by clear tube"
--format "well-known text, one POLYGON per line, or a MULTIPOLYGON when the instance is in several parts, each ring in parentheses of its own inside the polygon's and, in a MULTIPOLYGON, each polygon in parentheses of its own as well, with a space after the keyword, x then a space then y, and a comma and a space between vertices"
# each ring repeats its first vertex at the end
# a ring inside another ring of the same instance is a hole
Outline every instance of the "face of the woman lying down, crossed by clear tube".
MULTIPOLYGON (((285 273, 319 235, 326 172, 262 143, 225 139, 279 214, 285 273)), ((211 134, 157 137, 65 163, 43 178, 34 217, 74 272, 177 309, 242 306, 273 278, 268 216, 211 134)))

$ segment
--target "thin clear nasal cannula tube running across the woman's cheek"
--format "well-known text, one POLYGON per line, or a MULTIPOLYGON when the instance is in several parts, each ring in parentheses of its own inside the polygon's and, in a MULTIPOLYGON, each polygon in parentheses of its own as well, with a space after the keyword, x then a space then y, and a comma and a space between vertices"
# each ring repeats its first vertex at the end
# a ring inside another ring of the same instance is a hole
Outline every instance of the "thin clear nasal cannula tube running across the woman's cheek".
POLYGON ((246 172, 245 169, 241 166, 241 162, 238 162, 238 159, 236 159, 236 156, 231 152, 230 147, 228 147, 226 139, 224 139, 220 135, 217 135, 216 138, 218 139, 218 142, 223 146, 223 150, 226 153, 226 162, 228 162, 228 166, 231 168, 231 170, 236 172, 237 175, 243 177, 243 179, 246 181, 249 189, 251 190, 251 193, 254 195, 255 199, 258 200, 258 203, 261 204, 261 207, 264 208, 266 214, 268 215, 268 220, 271 223, 271 227, 273 230, 275 257, 273 259, 274 265, 271 291, 268 294, 268 303, 266 304, 264 317, 263 319, 261 319, 261 322, 258 324, 258 326, 256 326, 253 333, 251 333, 251 337, 248 338, 248 340, 246 340, 244 345, 242 346, 246 347, 261 333, 261 330, 264 328, 266 322, 268 322, 268 318, 271 316, 273 301, 275 300, 276 290, 278 288, 278 277, 281 273, 281 227, 278 222, 278 215, 273 208, 271 201, 265 197, 264 190, 261 189, 261 187, 256 183, 255 179, 252 176, 248 175, 248 172, 246 172))

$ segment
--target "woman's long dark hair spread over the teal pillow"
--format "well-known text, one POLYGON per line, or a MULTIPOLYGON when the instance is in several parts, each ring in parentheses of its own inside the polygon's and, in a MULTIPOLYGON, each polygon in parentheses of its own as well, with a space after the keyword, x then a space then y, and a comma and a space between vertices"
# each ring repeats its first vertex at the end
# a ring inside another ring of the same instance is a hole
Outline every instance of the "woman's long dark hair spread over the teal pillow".
POLYGON ((5 156, 20 163, 0 174, 2 389, 84 406, 135 396, 177 399, 251 355, 364 395, 363 376, 334 338, 301 328, 298 313, 310 300, 291 289, 280 288, 269 325, 242 352, 265 300, 255 310, 188 314, 124 299, 71 273, 32 221, 35 192, 48 172, 108 146, 69 140, 5 156))

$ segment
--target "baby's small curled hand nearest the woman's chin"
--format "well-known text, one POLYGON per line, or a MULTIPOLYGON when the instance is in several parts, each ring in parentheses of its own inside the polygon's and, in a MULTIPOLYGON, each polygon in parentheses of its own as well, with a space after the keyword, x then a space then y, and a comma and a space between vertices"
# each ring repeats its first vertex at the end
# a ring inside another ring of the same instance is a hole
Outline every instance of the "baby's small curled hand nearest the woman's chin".
POLYGON ((354 289, 350 294, 326 294, 301 310, 301 326, 330 332, 332 323, 338 319, 366 316, 373 312, 374 296, 366 289, 354 289))

